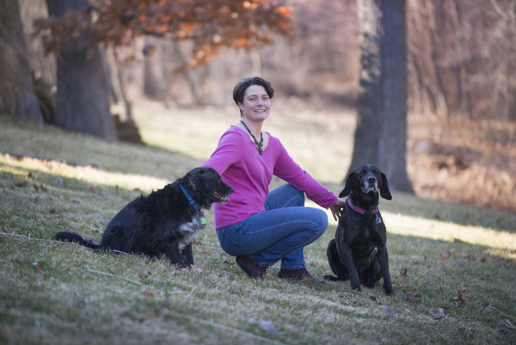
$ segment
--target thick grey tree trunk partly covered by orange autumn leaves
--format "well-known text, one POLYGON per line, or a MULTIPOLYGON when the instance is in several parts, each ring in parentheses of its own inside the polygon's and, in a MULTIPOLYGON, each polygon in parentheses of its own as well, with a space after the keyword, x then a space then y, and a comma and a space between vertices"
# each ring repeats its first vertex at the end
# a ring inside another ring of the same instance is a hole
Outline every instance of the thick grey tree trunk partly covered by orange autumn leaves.
MULTIPOLYGON (((49 15, 60 17, 89 5, 88 0, 47 0, 49 15)), ((109 84, 99 46, 79 37, 57 57, 57 94, 54 122, 71 131, 116 139, 109 113, 109 84)))

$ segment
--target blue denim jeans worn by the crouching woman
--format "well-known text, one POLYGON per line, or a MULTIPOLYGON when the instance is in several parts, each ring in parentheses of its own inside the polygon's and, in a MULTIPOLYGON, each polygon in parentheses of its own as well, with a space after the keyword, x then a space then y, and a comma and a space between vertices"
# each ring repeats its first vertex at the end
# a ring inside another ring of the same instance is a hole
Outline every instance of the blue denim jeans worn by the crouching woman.
POLYGON ((328 227, 321 209, 304 207, 304 194, 291 184, 271 191, 265 212, 217 229, 220 246, 232 256, 248 255, 262 267, 281 260, 281 269, 304 268, 303 247, 328 227))

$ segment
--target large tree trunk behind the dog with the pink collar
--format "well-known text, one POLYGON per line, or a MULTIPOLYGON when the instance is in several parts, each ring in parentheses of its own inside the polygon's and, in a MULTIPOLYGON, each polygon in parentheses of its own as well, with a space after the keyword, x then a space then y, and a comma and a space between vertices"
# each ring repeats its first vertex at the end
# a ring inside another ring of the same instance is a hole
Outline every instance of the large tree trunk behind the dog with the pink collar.
POLYGON ((412 192, 406 170, 405 0, 358 0, 361 71, 350 170, 374 164, 391 190, 412 192))

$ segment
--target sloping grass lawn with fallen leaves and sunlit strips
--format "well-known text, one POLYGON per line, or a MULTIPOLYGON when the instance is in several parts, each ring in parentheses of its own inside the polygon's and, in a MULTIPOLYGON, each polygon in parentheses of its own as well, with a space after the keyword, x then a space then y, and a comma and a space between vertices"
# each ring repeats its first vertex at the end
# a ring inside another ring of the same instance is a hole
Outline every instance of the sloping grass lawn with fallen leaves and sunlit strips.
MULTIPOLYGON (((264 130, 340 192, 353 115, 275 112, 264 130)), ((220 249, 213 211, 190 271, 53 241, 71 230, 99 242, 127 202, 199 166, 238 121, 234 107, 148 104, 135 114, 153 146, 0 116, 0 343, 516 343, 513 213, 402 193, 380 200, 394 296, 381 281, 362 291, 348 281, 284 281, 277 266, 263 281, 250 279, 220 249)), ((305 248, 316 277, 331 273, 335 226, 330 216, 324 236, 305 248)))

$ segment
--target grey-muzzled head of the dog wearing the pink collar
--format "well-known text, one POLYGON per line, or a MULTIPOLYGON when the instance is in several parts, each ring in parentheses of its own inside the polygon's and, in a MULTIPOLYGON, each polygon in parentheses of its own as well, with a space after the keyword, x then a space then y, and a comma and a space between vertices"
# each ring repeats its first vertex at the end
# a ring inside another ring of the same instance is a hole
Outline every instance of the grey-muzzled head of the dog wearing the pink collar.
POLYGON ((370 164, 361 165, 349 173, 344 189, 338 197, 348 196, 351 192, 364 194, 380 192, 382 198, 392 199, 387 177, 380 169, 370 164))

